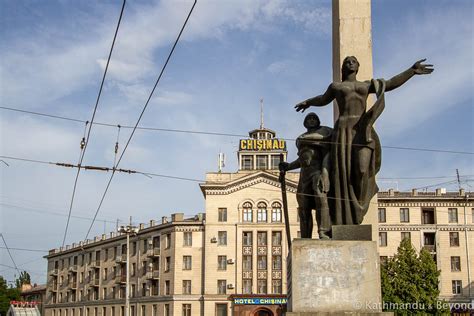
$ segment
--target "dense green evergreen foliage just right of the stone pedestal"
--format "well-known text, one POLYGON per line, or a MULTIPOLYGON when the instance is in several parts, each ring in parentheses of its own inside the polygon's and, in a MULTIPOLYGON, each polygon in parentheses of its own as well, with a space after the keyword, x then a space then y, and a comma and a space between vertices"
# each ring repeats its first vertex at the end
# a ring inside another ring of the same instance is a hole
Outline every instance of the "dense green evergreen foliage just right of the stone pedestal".
POLYGON ((397 254, 381 267, 384 311, 397 315, 441 315, 437 269, 431 254, 422 249, 417 255, 410 239, 403 239, 397 254))

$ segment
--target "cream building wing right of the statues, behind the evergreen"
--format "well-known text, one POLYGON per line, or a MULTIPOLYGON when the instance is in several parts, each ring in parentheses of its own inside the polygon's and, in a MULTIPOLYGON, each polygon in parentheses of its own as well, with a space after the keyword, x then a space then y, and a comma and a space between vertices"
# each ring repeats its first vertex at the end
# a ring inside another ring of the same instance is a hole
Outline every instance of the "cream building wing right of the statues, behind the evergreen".
POLYGON ((474 303, 472 192, 379 192, 378 219, 381 261, 409 238, 417 251, 429 250, 441 270, 440 298, 474 303))

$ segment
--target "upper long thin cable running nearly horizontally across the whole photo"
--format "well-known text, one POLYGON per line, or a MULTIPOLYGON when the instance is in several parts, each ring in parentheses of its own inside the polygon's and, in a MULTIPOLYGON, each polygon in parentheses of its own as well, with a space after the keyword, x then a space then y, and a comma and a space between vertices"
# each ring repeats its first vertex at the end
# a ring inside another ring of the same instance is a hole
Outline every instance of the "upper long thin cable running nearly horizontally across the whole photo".
MULTIPOLYGON (((28 114, 33 114, 33 115, 46 116, 46 117, 51 117, 51 118, 56 118, 56 119, 62 119, 62 120, 78 122, 78 123, 87 123, 88 122, 88 121, 85 121, 85 120, 79 120, 79 119, 74 119, 74 118, 70 118, 70 117, 64 117, 64 116, 58 116, 58 115, 49 115, 49 114, 26 111, 26 110, 20 110, 20 109, 9 108, 9 107, 4 107, 4 106, 0 106, 0 109, 16 111, 16 112, 22 112, 22 113, 28 113, 28 114)), ((92 124, 100 125, 100 126, 107 126, 107 127, 114 127, 114 128, 117 128, 118 125, 120 125, 121 128, 126 128, 126 129, 135 128, 134 126, 130 126, 130 125, 111 124, 111 123, 93 122, 92 124)), ((226 136, 226 137, 240 137, 240 138, 242 138, 242 137, 245 138, 245 137, 248 136, 248 135, 236 134, 236 133, 182 130, 182 129, 172 129, 172 128, 160 128, 160 127, 144 127, 144 126, 140 127, 140 126, 137 126, 136 129, 138 129, 138 130, 147 130, 147 131, 158 131, 158 132, 171 132, 171 133, 197 134, 197 135, 210 135, 210 136, 226 136)), ((283 137, 281 139, 284 139, 286 141, 295 141, 296 140, 294 138, 286 138, 286 137, 283 137)), ((322 142, 322 141, 321 141, 321 143, 334 144, 334 145, 339 144, 337 142, 322 142)), ((356 146, 357 144, 353 144, 353 145, 356 146)), ((444 150, 444 149, 433 149, 433 148, 414 148, 414 147, 403 147, 403 146, 385 146, 385 145, 381 146, 381 147, 386 148, 386 149, 396 149, 396 150, 474 155, 474 152, 469 152, 469 151, 444 150)))

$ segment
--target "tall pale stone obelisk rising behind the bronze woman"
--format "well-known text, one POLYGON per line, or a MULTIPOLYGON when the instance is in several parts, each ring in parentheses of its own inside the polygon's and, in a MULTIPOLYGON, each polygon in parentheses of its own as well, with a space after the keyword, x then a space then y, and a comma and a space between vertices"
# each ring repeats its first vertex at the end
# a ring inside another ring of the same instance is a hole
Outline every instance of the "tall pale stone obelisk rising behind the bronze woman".
MULTIPOLYGON (((333 81, 341 81, 341 65, 346 56, 355 56, 360 68, 357 80, 373 78, 371 0, 332 0, 332 71, 333 81)), ((334 101, 336 102, 336 101, 334 101)), ((367 107, 374 98, 369 96, 367 107)), ((334 104, 334 121, 338 117, 334 104)), ((371 201, 362 224, 372 225, 372 240, 378 240, 377 197, 371 201)))

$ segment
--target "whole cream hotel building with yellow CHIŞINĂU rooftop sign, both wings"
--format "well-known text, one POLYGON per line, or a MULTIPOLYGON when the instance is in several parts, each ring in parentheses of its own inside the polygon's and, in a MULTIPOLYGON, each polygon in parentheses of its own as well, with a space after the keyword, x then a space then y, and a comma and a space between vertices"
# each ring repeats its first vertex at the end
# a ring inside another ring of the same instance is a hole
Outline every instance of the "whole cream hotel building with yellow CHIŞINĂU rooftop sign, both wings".
MULTIPOLYGON (((237 172, 208 173, 200 185, 205 215, 173 214, 169 222, 140 225, 130 237, 131 316, 267 316, 285 310, 288 248, 278 164, 286 160, 286 143, 261 126, 240 141, 237 156, 237 172)), ((297 172, 287 173, 291 238, 299 237, 298 179, 297 172)), ((381 260, 395 254, 401 238, 411 238, 418 250, 426 247, 435 256, 441 298, 474 298, 469 194, 390 191, 373 202, 381 260)), ((45 315, 124 316, 126 250, 126 236, 118 233, 51 250, 45 315)))

